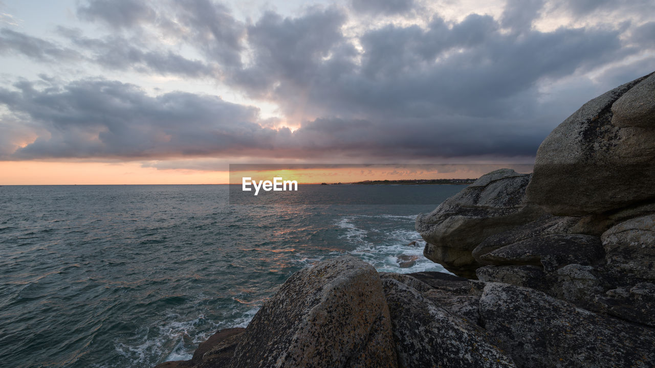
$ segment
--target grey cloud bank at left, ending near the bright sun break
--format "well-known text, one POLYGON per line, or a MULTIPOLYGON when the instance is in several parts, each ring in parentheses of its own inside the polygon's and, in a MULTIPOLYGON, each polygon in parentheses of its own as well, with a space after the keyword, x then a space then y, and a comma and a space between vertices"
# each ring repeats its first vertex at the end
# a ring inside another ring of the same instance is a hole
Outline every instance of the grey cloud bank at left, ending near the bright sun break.
POLYGON ((277 134, 253 122, 257 109, 215 96, 150 97, 131 84, 104 80, 50 88, 24 81, 14 87, 0 89, 0 103, 12 112, 3 120, 29 119, 40 131, 33 143, 5 158, 230 154, 270 147, 277 134))

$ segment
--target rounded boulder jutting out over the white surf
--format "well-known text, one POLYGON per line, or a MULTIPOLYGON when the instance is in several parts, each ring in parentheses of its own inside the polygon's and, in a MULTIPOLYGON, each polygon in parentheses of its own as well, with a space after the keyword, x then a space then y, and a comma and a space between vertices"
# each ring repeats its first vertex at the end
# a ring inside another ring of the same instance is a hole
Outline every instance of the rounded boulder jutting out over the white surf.
POLYGON ((543 212, 525 201, 530 174, 500 169, 483 175, 428 215, 415 227, 427 242, 423 254, 447 270, 475 277, 480 265, 471 251, 493 234, 538 218, 543 212))

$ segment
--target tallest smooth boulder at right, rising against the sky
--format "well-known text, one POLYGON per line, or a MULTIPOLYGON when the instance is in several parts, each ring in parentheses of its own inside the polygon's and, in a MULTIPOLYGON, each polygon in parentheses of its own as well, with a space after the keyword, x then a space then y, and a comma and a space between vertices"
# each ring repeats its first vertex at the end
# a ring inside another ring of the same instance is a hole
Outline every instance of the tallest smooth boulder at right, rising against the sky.
POLYGON ((615 126, 610 111, 644 79, 588 101, 553 130, 536 154, 530 202, 579 216, 655 199, 655 129, 615 126))

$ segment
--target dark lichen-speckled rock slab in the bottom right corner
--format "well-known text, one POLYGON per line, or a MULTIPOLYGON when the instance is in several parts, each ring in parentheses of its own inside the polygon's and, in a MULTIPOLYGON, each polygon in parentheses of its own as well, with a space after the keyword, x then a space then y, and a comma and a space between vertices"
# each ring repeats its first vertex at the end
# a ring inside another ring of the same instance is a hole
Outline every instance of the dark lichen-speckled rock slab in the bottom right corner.
POLYGON ((480 314, 519 367, 655 365, 653 329, 599 316, 540 291, 488 283, 480 314))

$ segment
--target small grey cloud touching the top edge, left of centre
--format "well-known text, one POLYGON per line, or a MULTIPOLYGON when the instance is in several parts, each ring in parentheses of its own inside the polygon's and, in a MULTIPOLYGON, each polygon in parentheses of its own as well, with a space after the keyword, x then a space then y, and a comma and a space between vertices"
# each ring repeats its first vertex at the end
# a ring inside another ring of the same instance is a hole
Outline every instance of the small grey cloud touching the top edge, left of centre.
POLYGON ((152 20, 155 11, 142 0, 88 0, 79 5, 77 16, 88 21, 100 21, 112 28, 131 28, 152 20))

